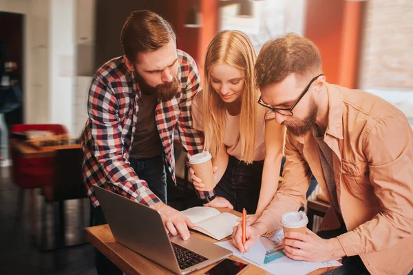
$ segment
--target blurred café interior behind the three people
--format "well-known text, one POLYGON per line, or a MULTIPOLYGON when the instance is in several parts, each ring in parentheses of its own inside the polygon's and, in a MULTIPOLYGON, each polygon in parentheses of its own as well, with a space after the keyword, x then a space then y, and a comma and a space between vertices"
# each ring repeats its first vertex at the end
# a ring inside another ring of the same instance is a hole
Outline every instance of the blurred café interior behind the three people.
MULTIPOLYGON (((257 54, 285 32, 306 36, 319 47, 329 83, 380 96, 413 125, 411 0, 0 0, 0 274, 96 274, 82 183, 62 187, 56 177, 81 181, 64 172, 78 168, 78 150, 24 158, 10 140, 12 129, 43 124, 78 149, 92 76, 123 54, 120 29, 142 9, 171 23, 201 76, 207 45, 221 30, 245 32, 257 54), (35 162, 50 170, 25 170, 35 162)), ((181 210, 198 202, 179 146, 169 201, 181 210)))

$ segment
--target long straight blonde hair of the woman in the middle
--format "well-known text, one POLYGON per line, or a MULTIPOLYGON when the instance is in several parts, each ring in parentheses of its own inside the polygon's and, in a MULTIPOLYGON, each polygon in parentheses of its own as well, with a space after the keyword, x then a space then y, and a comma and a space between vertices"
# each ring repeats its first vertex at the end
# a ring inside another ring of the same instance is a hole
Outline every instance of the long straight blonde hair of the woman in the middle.
POLYGON ((255 88, 254 63, 257 56, 253 44, 246 34, 236 30, 217 34, 209 43, 205 56, 202 97, 205 150, 218 155, 224 148, 225 106, 211 86, 211 69, 222 64, 244 72, 244 92, 241 97, 240 142, 241 160, 251 164, 255 153, 255 124, 257 100, 260 91, 255 88))

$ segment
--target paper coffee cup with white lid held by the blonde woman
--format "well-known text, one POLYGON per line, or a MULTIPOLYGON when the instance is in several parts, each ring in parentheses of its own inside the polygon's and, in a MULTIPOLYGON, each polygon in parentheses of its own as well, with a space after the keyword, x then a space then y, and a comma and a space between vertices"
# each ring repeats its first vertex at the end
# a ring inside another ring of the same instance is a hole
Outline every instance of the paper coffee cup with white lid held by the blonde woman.
POLYGON ((205 190, 211 191, 215 188, 215 180, 213 179, 212 156, 208 151, 203 151, 189 157, 189 164, 193 168, 195 175, 205 184, 205 190))

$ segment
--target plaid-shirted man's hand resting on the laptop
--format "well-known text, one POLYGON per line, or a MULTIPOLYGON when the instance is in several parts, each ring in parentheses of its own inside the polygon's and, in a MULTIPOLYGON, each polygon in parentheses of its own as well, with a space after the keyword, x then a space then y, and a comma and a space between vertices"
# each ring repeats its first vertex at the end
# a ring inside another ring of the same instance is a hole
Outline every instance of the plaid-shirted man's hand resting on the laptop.
POLYGON ((184 241, 189 239, 188 227, 193 228, 195 225, 184 214, 162 202, 153 204, 151 208, 159 212, 168 233, 173 236, 179 233, 184 241))

